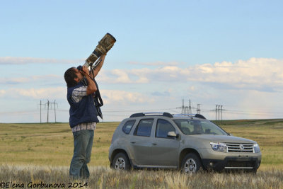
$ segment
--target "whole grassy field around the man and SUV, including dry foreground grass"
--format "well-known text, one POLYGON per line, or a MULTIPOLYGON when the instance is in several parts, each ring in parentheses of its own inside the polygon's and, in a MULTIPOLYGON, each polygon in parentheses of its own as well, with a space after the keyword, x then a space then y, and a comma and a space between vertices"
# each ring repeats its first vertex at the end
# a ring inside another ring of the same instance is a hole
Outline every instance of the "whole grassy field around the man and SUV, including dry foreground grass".
MULTIPOLYGON (((226 188, 233 185, 232 188, 258 188, 258 183, 262 183, 264 188, 283 187, 283 120, 229 120, 221 124, 234 136, 253 139, 260 144, 262 164, 256 176, 244 173, 184 176, 178 171, 134 171, 121 176, 121 173, 108 168, 108 147, 118 124, 101 122, 97 125, 88 164, 92 173, 88 181, 91 187, 174 188, 178 185, 177 188, 210 188, 213 185, 213 188, 226 188), (200 183, 200 178, 205 182, 200 183)), ((0 124, 0 128, 0 181, 25 184, 30 181, 69 181, 73 137, 67 123, 0 124), (22 177, 23 173, 26 176, 22 177), (54 174, 57 176, 54 177, 54 174)))

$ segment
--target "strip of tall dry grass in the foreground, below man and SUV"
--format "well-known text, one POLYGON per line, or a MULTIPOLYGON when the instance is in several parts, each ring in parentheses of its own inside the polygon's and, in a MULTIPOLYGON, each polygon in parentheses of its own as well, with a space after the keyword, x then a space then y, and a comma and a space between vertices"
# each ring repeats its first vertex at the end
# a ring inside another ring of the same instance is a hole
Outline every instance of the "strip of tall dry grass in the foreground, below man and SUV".
MULTIPOLYGON (((1 181, 10 183, 63 184, 87 183, 83 188, 283 188, 283 172, 270 169, 251 173, 197 173, 185 175, 179 171, 113 171, 91 167, 88 180, 71 180, 68 167, 0 166, 1 181)), ((42 187, 37 187, 42 188, 42 187)))

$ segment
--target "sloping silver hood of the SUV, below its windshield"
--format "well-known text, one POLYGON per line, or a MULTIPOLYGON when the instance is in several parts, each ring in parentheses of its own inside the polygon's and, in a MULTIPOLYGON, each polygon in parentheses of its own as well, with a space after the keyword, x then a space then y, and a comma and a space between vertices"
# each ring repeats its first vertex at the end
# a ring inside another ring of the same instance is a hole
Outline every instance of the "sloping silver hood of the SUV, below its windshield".
POLYGON ((241 137, 234 137, 229 135, 219 135, 219 134, 193 134, 188 135, 188 137, 193 137, 195 139, 200 139, 202 141, 209 142, 234 142, 234 143, 253 143, 256 142, 250 139, 245 139, 241 137))

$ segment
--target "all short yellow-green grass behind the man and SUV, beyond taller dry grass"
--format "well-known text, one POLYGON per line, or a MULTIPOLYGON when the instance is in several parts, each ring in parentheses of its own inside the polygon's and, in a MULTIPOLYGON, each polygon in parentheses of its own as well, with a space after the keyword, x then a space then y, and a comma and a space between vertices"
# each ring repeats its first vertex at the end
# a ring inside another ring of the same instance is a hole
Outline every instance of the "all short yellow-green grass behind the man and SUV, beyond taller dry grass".
MULTIPOLYGON (((90 166, 108 166, 108 148, 119 122, 98 123, 90 166)), ((68 123, 0 124, 0 159, 9 165, 69 166, 73 136, 68 123)), ((226 120, 221 124, 237 137, 260 144, 260 168, 283 169, 283 120, 226 120)))

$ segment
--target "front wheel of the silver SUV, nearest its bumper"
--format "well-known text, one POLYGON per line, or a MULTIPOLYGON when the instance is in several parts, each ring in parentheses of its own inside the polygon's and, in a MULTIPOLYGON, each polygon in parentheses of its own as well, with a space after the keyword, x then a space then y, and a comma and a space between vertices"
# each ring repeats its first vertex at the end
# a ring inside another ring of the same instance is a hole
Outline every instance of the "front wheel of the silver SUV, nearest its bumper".
POLYGON ((183 159, 181 171, 187 174, 197 173, 201 166, 200 158, 196 154, 190 153, 183 159))

